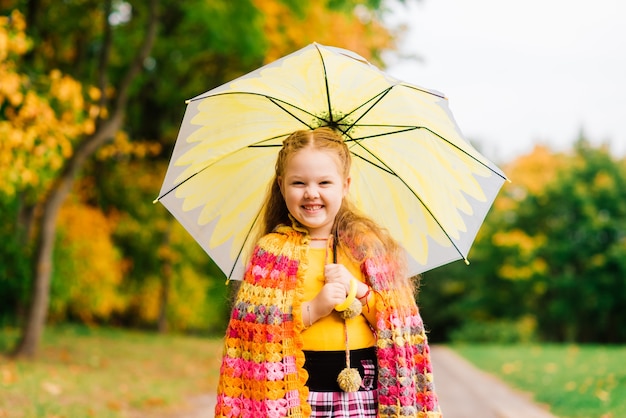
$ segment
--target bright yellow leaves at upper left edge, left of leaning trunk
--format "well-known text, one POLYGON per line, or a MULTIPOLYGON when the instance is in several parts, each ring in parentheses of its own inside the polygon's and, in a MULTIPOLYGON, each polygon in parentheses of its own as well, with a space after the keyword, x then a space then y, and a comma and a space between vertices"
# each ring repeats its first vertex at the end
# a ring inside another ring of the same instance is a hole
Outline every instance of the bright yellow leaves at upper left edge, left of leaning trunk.
POLYGON ((78 81, 53 70, 36 80, 48 86, 38 92, 34 81, 19 72, 16 61, 30 47, 24 30, 18 11, 0 17, 0 192, 9 196, 45 190, 72 155, 74 142, 94 129, 78 81))

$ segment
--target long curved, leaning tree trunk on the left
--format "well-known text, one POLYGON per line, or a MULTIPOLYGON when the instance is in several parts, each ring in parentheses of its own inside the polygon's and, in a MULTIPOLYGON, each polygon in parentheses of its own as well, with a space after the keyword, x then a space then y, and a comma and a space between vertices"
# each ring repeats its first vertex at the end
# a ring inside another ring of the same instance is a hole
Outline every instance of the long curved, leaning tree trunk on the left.
POLYGON ((60 176, 55 180, 49 193, 43 199, 41 215, 37 221, 37 230, 35 231, 37 238, 33 265, 34 283, 22 335, 13 351, 13 355, 16 357, 34 357, 37 353, 48 314, 50 281, 52 277, 52 254, 59 210, 71 192, 75 178, 87 159, 102 144, 113 138, 122 126, 130 85, 140 73, 143 62, 152 50, 156 38, 158 20, 156 9, 157 0, 151 0, 146 37, 139 53, 131 63, 117 89, 119 94, 110 112, 111 118, 105 120, 93 135, 86 137, 79 143, 72 157, 66 161, 60 176))

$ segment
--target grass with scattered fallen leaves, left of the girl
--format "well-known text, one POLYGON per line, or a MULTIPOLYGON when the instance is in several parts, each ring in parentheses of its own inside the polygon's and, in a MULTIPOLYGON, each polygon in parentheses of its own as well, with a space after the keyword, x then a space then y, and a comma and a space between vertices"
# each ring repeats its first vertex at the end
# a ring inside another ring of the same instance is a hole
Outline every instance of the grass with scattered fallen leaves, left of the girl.
MULTIPOLYGON (((15 330, 0 330, 0 347, 16 338, 15 330)), ((174 410, 215 391, 220 354, 218 339, 48 329, 36 360, 0 355, 0 417, 122 418, 174 410)))

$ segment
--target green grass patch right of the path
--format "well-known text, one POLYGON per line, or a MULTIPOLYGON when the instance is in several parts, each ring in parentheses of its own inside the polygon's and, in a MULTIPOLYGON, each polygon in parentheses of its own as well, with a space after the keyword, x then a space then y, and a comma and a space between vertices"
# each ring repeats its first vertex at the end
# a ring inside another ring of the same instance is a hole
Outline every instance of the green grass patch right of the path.
POLYGON ((626 346, 458 345, 478 368, 530 392, 559 417, 626 417, 626 346))

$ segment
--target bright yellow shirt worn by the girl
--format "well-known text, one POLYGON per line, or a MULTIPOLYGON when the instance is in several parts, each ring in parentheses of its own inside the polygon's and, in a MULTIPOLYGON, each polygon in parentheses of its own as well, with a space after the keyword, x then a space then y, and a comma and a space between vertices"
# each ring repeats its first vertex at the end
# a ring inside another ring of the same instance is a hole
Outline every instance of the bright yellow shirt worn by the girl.
MULTIPOLYGON (((310 301, 324 286, 324 265, 326 264, 326 248, 309 248, 309 267, 304 277, 304 301, 310 301)), ((338 263, 346 266, 348 271, 361 282, 365 282, 359 266, 351 262, 341 251, 338 254, 338 263)), ((332 262, 332 261, 329 261, 332 262)), ((308 324, 306 313, 302 318, 308 324)), ((311 327, 302 332, 303 350, 339 351, 346 349, 344 335, 344 320, 339 313, 333 311, 330 315, 319 319, 311 327)), ((367 305, 363 305, 363 313, 346 321, 348 328, 348 342, 351 350, 373 347, 376 337, 370 328, 370 323, 376 324, 376 294, 370 293, 367 305), (369 322, 368 322, 369 321, 369 322)))

